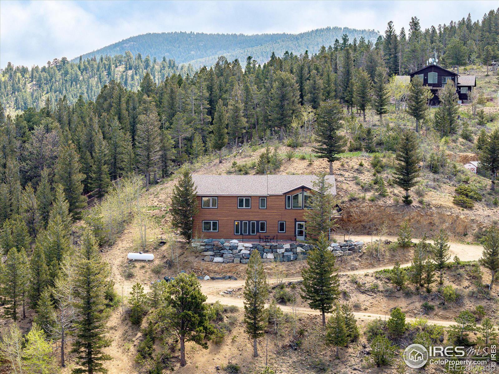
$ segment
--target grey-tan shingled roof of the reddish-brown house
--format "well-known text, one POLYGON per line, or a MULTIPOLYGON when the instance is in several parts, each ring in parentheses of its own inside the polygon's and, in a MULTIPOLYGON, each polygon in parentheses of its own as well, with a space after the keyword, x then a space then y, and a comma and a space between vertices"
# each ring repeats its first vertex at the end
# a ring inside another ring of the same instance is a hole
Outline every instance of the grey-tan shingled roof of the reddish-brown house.
MULTIPOLYGON (((198 195, 268 196, 282 195, 297 188, 313 189, 314 175, 216 176, 193 175, 198 195)), ((326 176, 330 192, 336 194, 334 176, 326 176)))

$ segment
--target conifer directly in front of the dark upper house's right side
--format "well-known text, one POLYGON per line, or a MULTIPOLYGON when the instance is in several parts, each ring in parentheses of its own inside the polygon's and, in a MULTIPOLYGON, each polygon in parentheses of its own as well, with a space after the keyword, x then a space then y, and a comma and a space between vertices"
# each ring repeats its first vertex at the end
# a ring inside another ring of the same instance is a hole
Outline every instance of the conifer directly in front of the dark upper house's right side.
POLYGON ((456 134, 458 125, 458 95, 452 84, 446 84, 440 92, 440 106, 434 118, 434 127, 442 137, 456 134))

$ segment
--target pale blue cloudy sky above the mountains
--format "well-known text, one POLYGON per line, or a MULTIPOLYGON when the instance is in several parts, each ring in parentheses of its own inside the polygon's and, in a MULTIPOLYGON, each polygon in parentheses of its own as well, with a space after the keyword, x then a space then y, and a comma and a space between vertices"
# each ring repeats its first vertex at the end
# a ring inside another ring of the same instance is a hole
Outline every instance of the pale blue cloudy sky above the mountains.
POLYGON ((482 19, 483 1, 0 1, 0 67, 73 58, 146 32, 303 32, 325 26, 384 32, 411 16, 423 28, 466 17, 482 19))

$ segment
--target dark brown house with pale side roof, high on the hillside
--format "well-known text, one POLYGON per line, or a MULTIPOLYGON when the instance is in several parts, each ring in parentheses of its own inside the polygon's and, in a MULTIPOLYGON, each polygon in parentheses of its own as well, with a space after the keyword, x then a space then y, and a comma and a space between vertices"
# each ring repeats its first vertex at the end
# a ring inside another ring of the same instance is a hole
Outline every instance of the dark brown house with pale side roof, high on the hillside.
POLYGON ((430 100, 430 105, 439 105, 439 92, 446 84, 452 84, 456 87, 459 100, 466 101, 469 99, 469 93, 476 86, 474 75, 460 76, 457 73, 444 69, 438 65, 428 65, 409 74, 411 79, 419 77, 423 81, 423 85, 429 86, 433 93, 433 98, 430 100), (457 81, 456 81, 457 80, 457 81))

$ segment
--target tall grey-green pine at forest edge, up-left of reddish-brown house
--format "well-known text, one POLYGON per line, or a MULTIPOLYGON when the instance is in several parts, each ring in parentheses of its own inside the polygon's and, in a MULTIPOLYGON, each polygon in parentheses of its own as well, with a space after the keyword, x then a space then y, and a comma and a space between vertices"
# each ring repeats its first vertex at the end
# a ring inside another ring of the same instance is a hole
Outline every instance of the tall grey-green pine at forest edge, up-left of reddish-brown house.
POLYGON ((137 123, 135 137, 137 166, 147 176, 157 171, 160 157, 159 119, 154 102, 145 99, 137 123))

